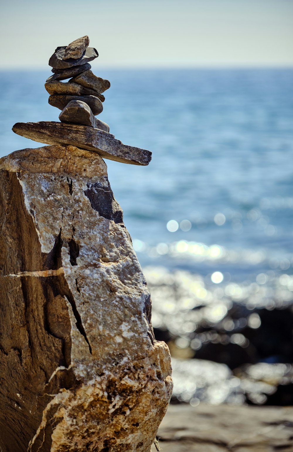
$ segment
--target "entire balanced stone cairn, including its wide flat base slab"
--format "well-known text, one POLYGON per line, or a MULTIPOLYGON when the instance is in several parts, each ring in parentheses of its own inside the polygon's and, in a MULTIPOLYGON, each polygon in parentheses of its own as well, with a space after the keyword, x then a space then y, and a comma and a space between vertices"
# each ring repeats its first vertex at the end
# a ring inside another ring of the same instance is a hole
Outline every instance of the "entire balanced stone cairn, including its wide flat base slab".
POLYGON ((45 88, 50 94, 49 104, 62 110, 61 122, 17 122, 12 130, 34 141, 73 145, 110 160, 148 165, 151 152, 124 145, 109 133, 105 122, 95 118, 102 112, 102 93, 110 88, 110 82, 90 70, 89 61, 97 58, 98 52, 88 44, 88 36, 83 36, 68 46, 57 47, 49 60, 53 75, 46 80, 45 88), (65 83, 60 81, 69 78, 65 83))

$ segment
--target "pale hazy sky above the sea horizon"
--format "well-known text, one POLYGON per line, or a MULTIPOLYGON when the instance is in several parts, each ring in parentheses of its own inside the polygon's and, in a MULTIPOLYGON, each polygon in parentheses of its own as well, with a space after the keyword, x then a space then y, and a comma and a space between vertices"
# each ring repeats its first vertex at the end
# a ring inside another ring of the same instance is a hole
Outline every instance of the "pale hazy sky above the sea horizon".
POLYGON ((2 69, 45 69, 85 34, 100 67, 293 66, 293 0, 7 0, 0 16, 2 69))

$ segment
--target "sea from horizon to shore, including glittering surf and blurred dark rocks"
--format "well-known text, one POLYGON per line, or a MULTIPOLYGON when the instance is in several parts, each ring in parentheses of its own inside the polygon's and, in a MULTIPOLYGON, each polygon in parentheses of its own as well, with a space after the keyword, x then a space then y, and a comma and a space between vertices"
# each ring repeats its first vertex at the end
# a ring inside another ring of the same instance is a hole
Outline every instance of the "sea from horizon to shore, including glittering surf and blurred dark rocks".
MULTIPOLYGON (((93 72, 111 81, 99 118, 153 152, 106 163, 174 400, 292 405, 293 69, 93 72)), ((0 73, 0 156, 42 146, 15 122, 58 120, 49 75, 0 73)))

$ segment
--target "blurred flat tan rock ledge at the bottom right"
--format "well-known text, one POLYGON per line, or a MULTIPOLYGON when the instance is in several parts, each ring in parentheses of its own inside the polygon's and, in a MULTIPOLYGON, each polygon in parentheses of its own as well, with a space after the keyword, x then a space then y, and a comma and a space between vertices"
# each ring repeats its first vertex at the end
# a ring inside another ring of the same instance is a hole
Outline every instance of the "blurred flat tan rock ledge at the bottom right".
POLYGON ((292 452, 293 407, 170 405, 158 437, 162 452, 292 452))

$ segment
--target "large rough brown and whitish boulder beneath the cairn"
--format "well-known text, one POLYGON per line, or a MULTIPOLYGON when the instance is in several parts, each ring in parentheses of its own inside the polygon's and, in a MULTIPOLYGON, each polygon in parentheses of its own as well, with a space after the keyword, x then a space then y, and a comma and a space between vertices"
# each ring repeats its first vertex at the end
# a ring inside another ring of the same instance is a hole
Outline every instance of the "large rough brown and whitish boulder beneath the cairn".
POLYGON ((0 449, 149 452, 170 357, 105 162, 2 158, 0 225, 0 449))

